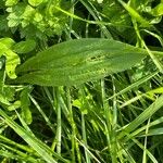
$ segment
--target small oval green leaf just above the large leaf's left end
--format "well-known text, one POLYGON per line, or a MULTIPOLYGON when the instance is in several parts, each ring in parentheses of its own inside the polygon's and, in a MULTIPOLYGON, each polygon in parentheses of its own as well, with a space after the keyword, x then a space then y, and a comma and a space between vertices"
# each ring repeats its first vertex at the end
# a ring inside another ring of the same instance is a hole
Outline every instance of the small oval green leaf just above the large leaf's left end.
POLYGON ((13 46, 13 51, 16 53, 28 53, 33 51, 36 47, 36 41, 28 39, 26 41, 21 41, 13 46))

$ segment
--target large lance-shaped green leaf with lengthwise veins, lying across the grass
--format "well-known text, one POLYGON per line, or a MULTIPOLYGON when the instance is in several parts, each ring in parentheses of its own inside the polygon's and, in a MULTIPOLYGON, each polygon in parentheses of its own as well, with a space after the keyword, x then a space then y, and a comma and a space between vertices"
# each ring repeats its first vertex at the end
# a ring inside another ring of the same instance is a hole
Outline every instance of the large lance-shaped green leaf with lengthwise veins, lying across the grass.
MULTIPOLYGON (((163 52, 154 52, 162 54, 163 52)), ((65 41, 39 52, 20 67, 15 83, 70 86, 102 78, 130 68, 147 51, 110 39, 65 41)))

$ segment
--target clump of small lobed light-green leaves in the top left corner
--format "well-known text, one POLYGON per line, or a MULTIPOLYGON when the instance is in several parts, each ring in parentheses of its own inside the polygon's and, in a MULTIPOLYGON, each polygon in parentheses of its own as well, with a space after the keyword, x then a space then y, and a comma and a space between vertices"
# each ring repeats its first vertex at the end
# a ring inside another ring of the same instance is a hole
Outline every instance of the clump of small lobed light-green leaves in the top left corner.
POLYGON ((54 10, 54 7, 64 7, 61 0, 28 0, 28 3, 7 0, 5 5, 9 14, 3 16, 7 16, 8 26, 20 29, 21 37, 47 39, 61 35, 65 28, 67 16, 54 10))

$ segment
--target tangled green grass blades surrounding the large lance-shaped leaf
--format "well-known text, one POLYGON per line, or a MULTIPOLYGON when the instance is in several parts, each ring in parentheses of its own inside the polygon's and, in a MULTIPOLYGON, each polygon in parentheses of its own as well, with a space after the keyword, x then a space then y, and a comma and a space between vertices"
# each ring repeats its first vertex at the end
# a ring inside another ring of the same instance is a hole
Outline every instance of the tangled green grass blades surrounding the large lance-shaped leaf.
MULTIPOLYGON (((49 4, 52 1, 48 9, 49 4)), ((152 51, 162 51, 163 22, 156 22, 162 12, 153 15, 162 1, 71 0, 66 5, 70 9, 54 5, 58 16, 66 17, 63 32, 52 36, 49 33, 45 38, 41 32, 34 30, 36 47, 20 54, 22 62, 40 49, 75 38, 123 41, 143 48, 147 57, 134 67, 83 84, 74 82, 73 86, 55 86, 53 80, 51 86, 9 85, 9 74, 0 58, 0 161, 162 163, 163 60, 152 51), (147 8, 151 11, 146 11, 147 8), (43 39, 37 38, 38 35, 43 39)), ((0 7, 3 8, 1 2, 0 7)), ((30 37, 16 38, 17 33, 21 37, 25 30, 17 26, 16 32, 8 35, 18 41, 30 37)), ((0 33, 1 38, 8 35, 0 33)), ((129 60, 125 62, 124 67, 129 60)))

